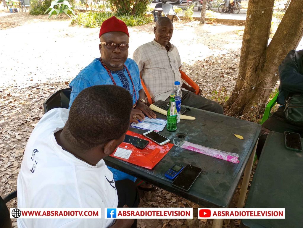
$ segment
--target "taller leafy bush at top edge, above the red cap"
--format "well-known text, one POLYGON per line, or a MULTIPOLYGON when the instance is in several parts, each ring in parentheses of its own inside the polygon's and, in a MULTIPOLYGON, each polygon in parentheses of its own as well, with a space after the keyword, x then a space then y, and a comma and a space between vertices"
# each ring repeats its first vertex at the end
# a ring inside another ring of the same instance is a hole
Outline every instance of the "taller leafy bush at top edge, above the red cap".
POLYGON ((117 15, 134 15, 134 16, 143 16, 150 5, 149 0, 109 0, 108 1, 112 12, 115 12, 117 15))

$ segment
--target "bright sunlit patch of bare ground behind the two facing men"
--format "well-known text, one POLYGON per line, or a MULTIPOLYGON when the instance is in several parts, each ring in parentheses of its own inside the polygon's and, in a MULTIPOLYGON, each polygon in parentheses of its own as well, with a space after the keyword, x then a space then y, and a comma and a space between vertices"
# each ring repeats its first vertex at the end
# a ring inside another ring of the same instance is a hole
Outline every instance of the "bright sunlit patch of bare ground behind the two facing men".
MULTIPOLYGON (((237 32, 243 27, 199 26, 198 21, 174 24, 171 43, 178 48, 185 64, 241 48, 241 41, 234 39, 239 39, 237 32), (229 41, 218 48, 214 42, 221 37, 229 41), (229 44, 234 41, 235 44, 229 44)), ((149 24, 129 28, 129 58, 132 58, 138 46, 153 40, 153 27, 153 24, 149 24)), ((0 66, 0 86, 15 84, 27 87, 54 78, 70 81, 100 56, 98 34, 99 28, 70 26, 67 20, 41 21, 32 18, 22 26, 0 30, 0 37, 14 44, 0 47, 0 55, 5 56, 0 66)))

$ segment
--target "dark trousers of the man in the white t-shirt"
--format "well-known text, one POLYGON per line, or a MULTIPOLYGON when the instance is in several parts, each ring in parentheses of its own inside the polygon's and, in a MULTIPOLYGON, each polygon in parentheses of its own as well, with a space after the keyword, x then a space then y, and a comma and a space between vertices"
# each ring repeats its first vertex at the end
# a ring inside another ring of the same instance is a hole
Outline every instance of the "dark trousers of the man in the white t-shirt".
MULTIPOLYGON (((123 207, 125 204, 128 207, 138 207, 140 198, 136 184, 128 179, 115 181, 115 186, 118 194, 118 207, 123 207)), ((137 227, 137 220, 135 219, 131 228, 137 227)))

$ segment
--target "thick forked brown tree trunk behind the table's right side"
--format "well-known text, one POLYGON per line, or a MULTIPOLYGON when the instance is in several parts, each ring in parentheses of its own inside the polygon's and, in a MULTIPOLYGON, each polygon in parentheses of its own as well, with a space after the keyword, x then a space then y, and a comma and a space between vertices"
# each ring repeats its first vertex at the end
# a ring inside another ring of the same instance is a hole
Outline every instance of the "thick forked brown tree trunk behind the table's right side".
POLYGON ((291 1, 268 45, 274 0, 248 3, 238 80, 225 105, 230 115, 258 113, 278 81, 278 66, 303 35, 303 0, 291 1), (241 78, 242 77, 242 78, 241 78))

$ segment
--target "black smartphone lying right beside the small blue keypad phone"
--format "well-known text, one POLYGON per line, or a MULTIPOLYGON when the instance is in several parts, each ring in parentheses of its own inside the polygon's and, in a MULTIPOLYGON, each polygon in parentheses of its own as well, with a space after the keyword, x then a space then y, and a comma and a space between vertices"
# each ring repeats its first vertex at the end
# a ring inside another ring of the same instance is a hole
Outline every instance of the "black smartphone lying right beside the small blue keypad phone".
POLYGON ((186 165, 178 177, 176 177, 176 179, 171 183, 171 185, 188 191, 197 177, 200 175, 201 171, 201 168, 186 165))

